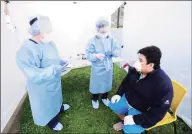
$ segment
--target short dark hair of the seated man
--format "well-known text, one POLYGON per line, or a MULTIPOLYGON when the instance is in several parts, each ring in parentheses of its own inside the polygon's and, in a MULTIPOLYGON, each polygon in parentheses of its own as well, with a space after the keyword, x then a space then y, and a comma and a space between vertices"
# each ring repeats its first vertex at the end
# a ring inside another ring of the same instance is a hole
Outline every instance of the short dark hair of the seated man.
POLYGON ((156 46, 148 46, 140 49, 139 54, 146 57, 147 64, 154 63, 154 69, 160 68, 161 50, 156 46))

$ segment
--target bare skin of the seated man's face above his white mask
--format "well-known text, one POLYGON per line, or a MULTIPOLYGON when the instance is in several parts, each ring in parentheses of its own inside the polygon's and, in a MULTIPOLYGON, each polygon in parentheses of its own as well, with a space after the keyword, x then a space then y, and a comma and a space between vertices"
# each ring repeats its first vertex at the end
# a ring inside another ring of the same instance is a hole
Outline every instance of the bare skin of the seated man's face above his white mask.
POLYGON ((141 73, 149 73, 153 71, 153 63, 147 64, 147 59, 144 55, 139 54, 139 61, 141 63, 141 73))

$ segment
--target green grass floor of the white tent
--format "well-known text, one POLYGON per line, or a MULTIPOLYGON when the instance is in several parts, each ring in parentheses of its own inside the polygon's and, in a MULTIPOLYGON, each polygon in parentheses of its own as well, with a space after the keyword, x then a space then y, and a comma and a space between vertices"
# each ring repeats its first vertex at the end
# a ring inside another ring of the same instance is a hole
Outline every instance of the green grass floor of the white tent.
MULTIPOLYGON (((115 81, 109 97, 115 94, 125 71, 114 66, 115 81)), ((71 108, 59 116, 64 129, 54 132, 48 127, 36 126, 33 122, 28 98, 25 101, 20 121, 20 133, 122 133, 113 130, 112 126, 118 117, 100 101, 98 110, 91 106, 89 93, 90 67, 75 69, 62 77, 63 101, 71 108)), ((179 134, 192 133, 192 130, 181 120, 176 121, 179 134)), ((173 134, 172 124, 157 127, 148 133, 173 134)))

